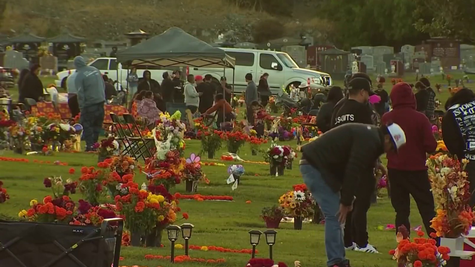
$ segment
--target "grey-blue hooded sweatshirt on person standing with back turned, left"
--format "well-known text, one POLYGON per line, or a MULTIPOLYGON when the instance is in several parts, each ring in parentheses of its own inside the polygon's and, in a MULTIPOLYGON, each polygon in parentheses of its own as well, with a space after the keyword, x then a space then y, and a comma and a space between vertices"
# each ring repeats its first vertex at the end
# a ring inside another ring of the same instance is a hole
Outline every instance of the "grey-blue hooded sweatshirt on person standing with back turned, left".
POLYGON ((101 72, 92 66, 87 66, 81 56, 74 58, 76 78, 74 84, 77 90, 79 108, 97 105, 105 102, 105 85, 101 72))

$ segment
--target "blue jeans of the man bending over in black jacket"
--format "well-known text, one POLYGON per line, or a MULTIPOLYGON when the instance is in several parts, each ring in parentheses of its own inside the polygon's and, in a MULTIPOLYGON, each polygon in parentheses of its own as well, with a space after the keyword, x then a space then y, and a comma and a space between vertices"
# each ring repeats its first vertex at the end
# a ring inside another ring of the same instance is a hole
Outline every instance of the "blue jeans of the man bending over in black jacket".
POLYGON ((340 192, 333 192, 323 180, 322 173, 311 165, 300 165, 300 173, 325 217, 327 266, 348 264, 349 261, 345 258, 343 229, 337 216, 340 210, 340 192))

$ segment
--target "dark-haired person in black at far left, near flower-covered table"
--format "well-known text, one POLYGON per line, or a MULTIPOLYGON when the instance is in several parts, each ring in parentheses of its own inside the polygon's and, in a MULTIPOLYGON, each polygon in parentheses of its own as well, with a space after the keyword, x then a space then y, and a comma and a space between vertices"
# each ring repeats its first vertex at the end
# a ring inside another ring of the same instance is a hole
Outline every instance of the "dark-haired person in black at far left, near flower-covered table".
POLYGON ((31 98, 36 102, 43 98, 43 83, 38 78, 41 67, 38 64, 33 64, 25 78, 21 82, 19 90, 18 102, 24 103, 25 98, 31 98))

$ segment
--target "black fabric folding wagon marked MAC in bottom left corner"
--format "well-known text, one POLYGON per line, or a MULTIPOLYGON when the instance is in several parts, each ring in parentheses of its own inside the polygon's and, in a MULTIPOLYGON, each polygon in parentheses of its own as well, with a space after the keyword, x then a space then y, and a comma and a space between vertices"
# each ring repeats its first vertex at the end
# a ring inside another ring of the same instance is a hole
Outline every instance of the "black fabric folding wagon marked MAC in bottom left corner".
POLYGON ((0 266, 119 266, 123 219, 100 227, 0 220, 0 266))

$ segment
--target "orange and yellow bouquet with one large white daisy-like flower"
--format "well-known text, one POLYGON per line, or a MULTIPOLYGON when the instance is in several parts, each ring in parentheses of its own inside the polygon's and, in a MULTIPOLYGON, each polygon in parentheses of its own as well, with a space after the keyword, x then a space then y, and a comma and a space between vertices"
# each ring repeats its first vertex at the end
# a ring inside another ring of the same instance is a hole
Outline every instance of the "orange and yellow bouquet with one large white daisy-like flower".
POLYGON ((279 205, 285 215, 297 219, 314 216, 315 200, 305 184, 297 184, 293 189, 280 196, 279 205))

